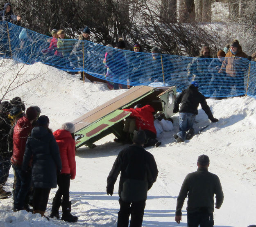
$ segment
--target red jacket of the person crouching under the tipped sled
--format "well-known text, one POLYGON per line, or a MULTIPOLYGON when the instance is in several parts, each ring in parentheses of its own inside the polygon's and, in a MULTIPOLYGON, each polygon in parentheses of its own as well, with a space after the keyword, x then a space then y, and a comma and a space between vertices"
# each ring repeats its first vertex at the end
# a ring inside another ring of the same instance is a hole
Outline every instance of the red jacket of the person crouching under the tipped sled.
POLYGON ((150 130, 156 134, 156 128, 154 126, 154 108, 150 105, 143 106, 136 109, 123 109, 131 112, 131 117, 136 117, 136 127, 141 130, 150 130))

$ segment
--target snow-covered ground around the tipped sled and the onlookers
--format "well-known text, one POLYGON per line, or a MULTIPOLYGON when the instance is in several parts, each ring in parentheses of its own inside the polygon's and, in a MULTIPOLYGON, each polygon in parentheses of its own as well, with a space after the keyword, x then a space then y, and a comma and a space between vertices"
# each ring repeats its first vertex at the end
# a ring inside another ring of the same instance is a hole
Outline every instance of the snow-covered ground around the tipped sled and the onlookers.
MULTIPOLYGON (((1 86, 9 83, 14 71, 21 65, 5 60, 0 67, 1 86), (9 69, 14 71, 9 72, 9 69), (3 72, 5 74, 3 75, 3 72)), ((72 121, 100 104, 125 92, 108 90, 100 83, 83 83, 79 75, 72 76, 55 68, 36 63, 25 65, 23 76, 41 76, 12 90, 6 99, 20 96, 26 107, 38 105, 42 115, 50 118, 50 128, 56 130, 63 122, 72 121)), ((19 82, 20 83, 20 82, 19 82)), ((1 89, 2 90, 2 89, 1 89)), ((174 115, 174 130, 159 137, 162 145, 148 148, 158 164, 159 176, 148 193, 143 220, 144 227, 186 226, 186 201, 182 222, 174 221, 176 200, 185 176, 196 171, 197 157, 210 157, 209 171, 219 176, 224 191, 224 202, 214 212, 215 226, 241 227, 256 224, 256 99, 236 97, 223 100, 207 99, 217 123, 210 123, 200 108, 195 128, 210 124, 200 135, 190 141, 177 144, 172 135, 177 132, 178 115, 174 115)), ((53 226, 116 226, 118 182, 113 196, 106 195, 106 178, 118 152, 125 146, 113 142, 113 135, 96 142, 94 149, 77 151, 77 176, 71 181, 70 200, 72 214, 79 217, 77 223, 41 218, 26 211, 12 212, 13 199, 0 200, 0 227, 53 227, 53 226)), ((7 189, 14 180, 11 169, 7 189)), ((46 210, 49 216, 52 189, 46 210)))

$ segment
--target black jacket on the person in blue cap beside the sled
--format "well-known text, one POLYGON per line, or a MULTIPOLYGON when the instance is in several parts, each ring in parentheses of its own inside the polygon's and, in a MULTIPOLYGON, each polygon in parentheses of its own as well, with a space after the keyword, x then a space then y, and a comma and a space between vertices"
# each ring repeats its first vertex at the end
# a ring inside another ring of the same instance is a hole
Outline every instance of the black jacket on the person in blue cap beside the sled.
POLYGON ((181 92, 177 99, 174 101, 173 109, 179 110, 179 112, 198 114, 198 106, 201 104, 202 109, 207 114, 208 118, 213 119, 213 114, 210 107, 207 105, 205 97, 201 94, 194 85, 189 85, 189 87, 181 92), (181 107, 179 109, 179 103, 181 107))

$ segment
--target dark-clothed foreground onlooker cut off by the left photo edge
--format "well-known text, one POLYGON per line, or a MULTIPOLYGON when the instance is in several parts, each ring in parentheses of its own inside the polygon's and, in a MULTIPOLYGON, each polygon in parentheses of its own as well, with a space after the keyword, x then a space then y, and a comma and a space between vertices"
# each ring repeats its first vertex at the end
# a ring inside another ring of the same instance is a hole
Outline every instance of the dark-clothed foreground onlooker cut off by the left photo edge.
POLYGON ((3 189, 11 167, 11 157, 8 152, 7 142, 8 134, 11 129, 11 122, 8 119, 10 110, 11 104, 8 101, 4 101, 0 104, 0 199, 11 195, 10 191, 3 189))

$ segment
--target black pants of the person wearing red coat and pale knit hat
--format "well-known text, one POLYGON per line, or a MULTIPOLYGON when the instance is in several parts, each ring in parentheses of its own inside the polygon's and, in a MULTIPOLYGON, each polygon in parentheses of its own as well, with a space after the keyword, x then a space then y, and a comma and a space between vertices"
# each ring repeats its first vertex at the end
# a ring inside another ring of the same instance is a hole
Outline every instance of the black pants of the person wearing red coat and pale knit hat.
POLYGON ((57 175, 58 190, 54 196, 56 201, 61 200, 62 205, 69 206, 69 186, 70 186, 70 174, 62 173, 57 175))

